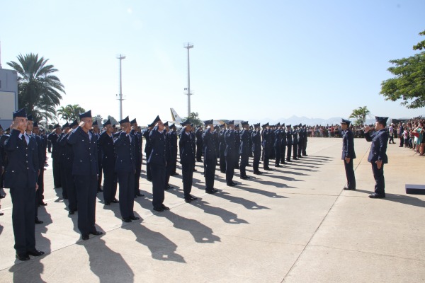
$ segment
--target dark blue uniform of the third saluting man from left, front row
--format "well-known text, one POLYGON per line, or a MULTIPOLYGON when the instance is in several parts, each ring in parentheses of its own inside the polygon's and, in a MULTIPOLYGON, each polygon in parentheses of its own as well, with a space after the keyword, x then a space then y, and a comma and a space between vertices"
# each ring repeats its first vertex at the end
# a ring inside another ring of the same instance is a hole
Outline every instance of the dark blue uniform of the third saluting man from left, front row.
POLYGON ((137 154, 135 137, 126 132, 120 132, 115 139, 115 172, 120 184, 120 212, 124 220, 135 217, 133 208, 135 203, 135 171, 137 154))

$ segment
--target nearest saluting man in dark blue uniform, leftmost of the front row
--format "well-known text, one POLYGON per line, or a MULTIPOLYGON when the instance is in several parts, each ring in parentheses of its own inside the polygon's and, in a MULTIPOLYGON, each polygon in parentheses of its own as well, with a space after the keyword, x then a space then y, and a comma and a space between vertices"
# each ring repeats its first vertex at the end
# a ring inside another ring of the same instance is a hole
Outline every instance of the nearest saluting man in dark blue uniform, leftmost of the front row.
POLYGON ((14 248, 18 260, 44 254, 35 249, 35 191, 40 169, 37 141, 25 133, 26 127, 25 108, 13 112, 11 135, 4 144, 8 157, 4 183, 11 188, 14 248))

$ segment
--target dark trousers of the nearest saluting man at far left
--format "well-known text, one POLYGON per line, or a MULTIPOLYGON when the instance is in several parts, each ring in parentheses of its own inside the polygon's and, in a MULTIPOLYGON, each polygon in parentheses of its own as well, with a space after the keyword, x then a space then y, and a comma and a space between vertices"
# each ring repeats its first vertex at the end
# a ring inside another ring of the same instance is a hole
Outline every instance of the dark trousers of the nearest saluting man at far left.
POLYGON ((35 187, 11 187, 15 250, 20 255, 35 250, 35 187))

